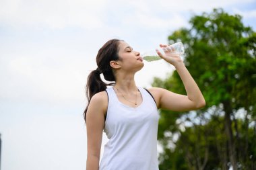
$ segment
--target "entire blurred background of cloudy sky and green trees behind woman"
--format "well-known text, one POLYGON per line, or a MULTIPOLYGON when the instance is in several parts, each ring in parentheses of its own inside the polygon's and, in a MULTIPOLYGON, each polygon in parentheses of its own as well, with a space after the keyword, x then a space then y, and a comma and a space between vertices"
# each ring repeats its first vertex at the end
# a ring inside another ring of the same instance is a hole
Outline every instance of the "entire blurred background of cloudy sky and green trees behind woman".
MULTIPOLYGON (((160 110, 160 169, 255 169, 255 21, 254 0, 1 0, 1 170, 86 169, 84 87, 111 38, 141 53, 182 41, 205 95, 160 110)), ((184 93, 173 71, 145 62, 135 78, 184 93)))

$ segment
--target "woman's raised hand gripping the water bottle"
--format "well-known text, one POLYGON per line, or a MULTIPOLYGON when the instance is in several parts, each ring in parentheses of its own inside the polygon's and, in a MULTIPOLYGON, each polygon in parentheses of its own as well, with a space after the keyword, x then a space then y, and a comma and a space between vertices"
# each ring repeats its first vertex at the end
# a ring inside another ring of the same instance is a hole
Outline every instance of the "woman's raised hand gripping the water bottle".
POLYGON ((172 49, 166 48, 168 45, 160 44, 160 47, 164 50, 164 54, 162 54, 159 50, 156 49, 158 55, 169 62, 174 67, 178 67, 179 65, 184 65, 181 56, 175 52, 172 52, 172 49))

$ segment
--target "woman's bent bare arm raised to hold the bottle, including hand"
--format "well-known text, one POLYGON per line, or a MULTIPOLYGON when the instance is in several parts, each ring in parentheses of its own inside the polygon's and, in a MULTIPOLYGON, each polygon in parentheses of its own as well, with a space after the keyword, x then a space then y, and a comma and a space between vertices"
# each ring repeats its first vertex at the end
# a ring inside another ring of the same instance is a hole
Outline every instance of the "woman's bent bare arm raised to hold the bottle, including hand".
MULTIPOLYGON (((162 45, 163 47, 164 45, 162 45)), ((185 67, 183 60, 181 60, 179 55, 173 54, 161 54, 158 52, 164 60, 174 65, 176 68, 183 85, 185 86, 187 95, 180 95, 177 93, 172 93, 166 89, 161 88, 151 88, 150 92, 154 95, 158 108, 183 112, 189 110, 197 110, 205 106, 205 99, 195 83, 193 77, 191 77, 189 71, 185 67)))

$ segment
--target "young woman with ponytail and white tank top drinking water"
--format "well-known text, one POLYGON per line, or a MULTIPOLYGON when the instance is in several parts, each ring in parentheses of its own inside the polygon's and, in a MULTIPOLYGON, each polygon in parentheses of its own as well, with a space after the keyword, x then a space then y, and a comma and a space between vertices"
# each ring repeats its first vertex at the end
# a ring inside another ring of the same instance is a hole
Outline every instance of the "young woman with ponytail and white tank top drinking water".
POLYGON ((134 75, 143 67, 143 58, 125 41, 109 40, 98 51, 98 68, 90 73, 86 85, 87 170, 158 170, 158 109, 181 112, 205 105, 180 56, 157 52, 176 68, 187 95, 157 87, 137 87, 134 75), (113 82, 108 84, 111 87, 107 88, 100 74, 113 82), (109 140, 100 162, 103 130, 109 140))

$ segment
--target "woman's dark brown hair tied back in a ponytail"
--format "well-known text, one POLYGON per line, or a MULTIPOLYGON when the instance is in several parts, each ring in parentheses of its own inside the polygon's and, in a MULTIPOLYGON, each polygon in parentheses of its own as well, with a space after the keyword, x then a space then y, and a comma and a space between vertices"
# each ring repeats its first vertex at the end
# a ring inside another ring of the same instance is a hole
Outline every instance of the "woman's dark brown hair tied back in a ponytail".
POLYGON ((87 79, 86 84, 86 97, 88 99, 88 104, 86 106, 86 110, 84 110, 84 120, 86 121, 86 112, 88 110, 88 105, 92 96, 100 91, 104 91, 107 85, 113 85, 115 83, 104 83, 100 78, 100 74, 104 76, 106 81, 115 81, 115 76, 113 74, 113 70, 110 67, 111 60, 119 60, 118 52, 119 52, 119 42, 121 40, 113 39, 108 40, 100 50, 98 50, 98 54, 96 56, 96 63, 98 68, 90 73, 87 79))

